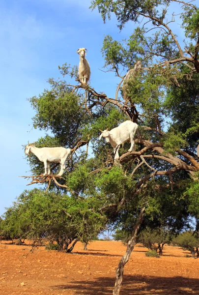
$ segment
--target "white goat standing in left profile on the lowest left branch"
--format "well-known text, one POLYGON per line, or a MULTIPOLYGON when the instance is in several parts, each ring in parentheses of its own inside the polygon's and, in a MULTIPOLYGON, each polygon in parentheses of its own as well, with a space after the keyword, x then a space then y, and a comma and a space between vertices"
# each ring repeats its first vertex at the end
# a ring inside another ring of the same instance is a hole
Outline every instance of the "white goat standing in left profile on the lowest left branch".
POLYGON ((29 144, 26 146, 25 153, 28 155, 29 152, 32 152, 35 154, 35 156, 41 161, 44 162, 44 168, 45 172, 44 175, 47 174, 47 169, 48 169, 48 174, 51 174, 50 170, 50 163, 60 163, 61 164, 61 169, 59 172, 59 176, 63 174, 63 171, 65 169, 65 161, 68 157, 68 155, 71 152, 70 148, 36 148, 32 144, 29 144))

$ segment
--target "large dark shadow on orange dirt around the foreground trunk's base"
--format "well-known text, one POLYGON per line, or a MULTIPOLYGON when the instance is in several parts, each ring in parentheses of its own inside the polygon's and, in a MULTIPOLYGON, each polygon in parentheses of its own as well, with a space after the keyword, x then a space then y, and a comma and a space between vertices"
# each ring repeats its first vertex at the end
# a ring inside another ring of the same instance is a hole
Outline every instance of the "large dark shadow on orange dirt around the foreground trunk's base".
MULTIPOLYGON (((73 290, 75 294, 111 295, 114 278, 99 277, 95 281, 74 281, 67 285, 52 286, 56 290, 73 290)), ((121 295, 188 295, 199 294, 199 279, 181 276, 172 278, 124 275, 121 295)))

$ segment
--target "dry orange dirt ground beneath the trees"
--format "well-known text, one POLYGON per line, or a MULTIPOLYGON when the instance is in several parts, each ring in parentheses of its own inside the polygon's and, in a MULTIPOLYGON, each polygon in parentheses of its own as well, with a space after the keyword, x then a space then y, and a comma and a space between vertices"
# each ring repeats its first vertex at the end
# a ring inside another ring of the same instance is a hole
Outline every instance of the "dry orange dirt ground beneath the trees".
MULTIPOLYGON (((0 295, 111 295, 116 266, 126 247, 93 241, 88 251, 78 242, 72 254, 28 245, 0 243, 0 295)), ((121 295, 199 295, 199 259, 165 245, 164 256, 149 258, 136 245, 124 268, 121 295)))

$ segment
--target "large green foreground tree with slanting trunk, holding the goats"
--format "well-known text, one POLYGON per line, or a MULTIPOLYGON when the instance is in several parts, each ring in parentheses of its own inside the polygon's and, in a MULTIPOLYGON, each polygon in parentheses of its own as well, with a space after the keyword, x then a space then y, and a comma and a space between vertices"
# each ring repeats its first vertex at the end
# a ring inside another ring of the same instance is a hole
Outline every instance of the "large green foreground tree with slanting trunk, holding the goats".
MULTIPOLYGON (((93 0, 91 5, 104 21, 114 13, 119 29, 129 21, 140 22, 128 40, 104 38, 105 67, 120 78, 116 92, 108 97, 103 89, 49 79, 51 89, 29 100, 36 111, 33 126, 53 134, 39 139, 38 147, 86 146, 73 155, 57 189, 97 200, 93 210, 106 214, 107 225, 132 232, 116 270, 113 294, 118 295, 142 222, 180 230, 188 217, 199 220, 199 8, 178 0, 93 0), (174 32, 180 7, 186 41, 174 32), (170 13, 172 9, 177 13, 170 13), (138 60, 142 68, 129 79, 124 101, 125 75, 120 73, 138 60), (124 144, 114 162, 113 148, 98 140, 99 129, 112 129, 127 119, 139 125, 137 148, 129 153, 124 144)), ((77 67, 64 64, 59 69, 63 77, 77 79, 77 67)), ((29 161, 34 175, 40 175, 43 164, 33 155, 29 161)), ((56 190, 55 184, 49 189, 56 190)))

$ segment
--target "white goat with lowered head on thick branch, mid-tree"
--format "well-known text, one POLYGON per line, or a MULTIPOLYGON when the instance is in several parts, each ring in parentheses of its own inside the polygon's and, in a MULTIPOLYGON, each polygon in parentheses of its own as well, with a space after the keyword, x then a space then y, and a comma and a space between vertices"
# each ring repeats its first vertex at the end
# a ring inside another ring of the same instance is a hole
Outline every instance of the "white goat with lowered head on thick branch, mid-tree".
POLYGON ((108 129, 104 131, 100 130, 102 134, 100 135, 99 139, 104 137, 106 139, 106 142, 112 145, 115 154, 114 158, 116 160, 119 159, 118 149, 120 145, 128 140, 130 140, 131 142, 131 147, 128 151, 135 151, 136 147, 134 143, 134 135, 136 133, 137 128, 138 124, 130 120, 127 120, 110 131, 108 131, 108 129))

